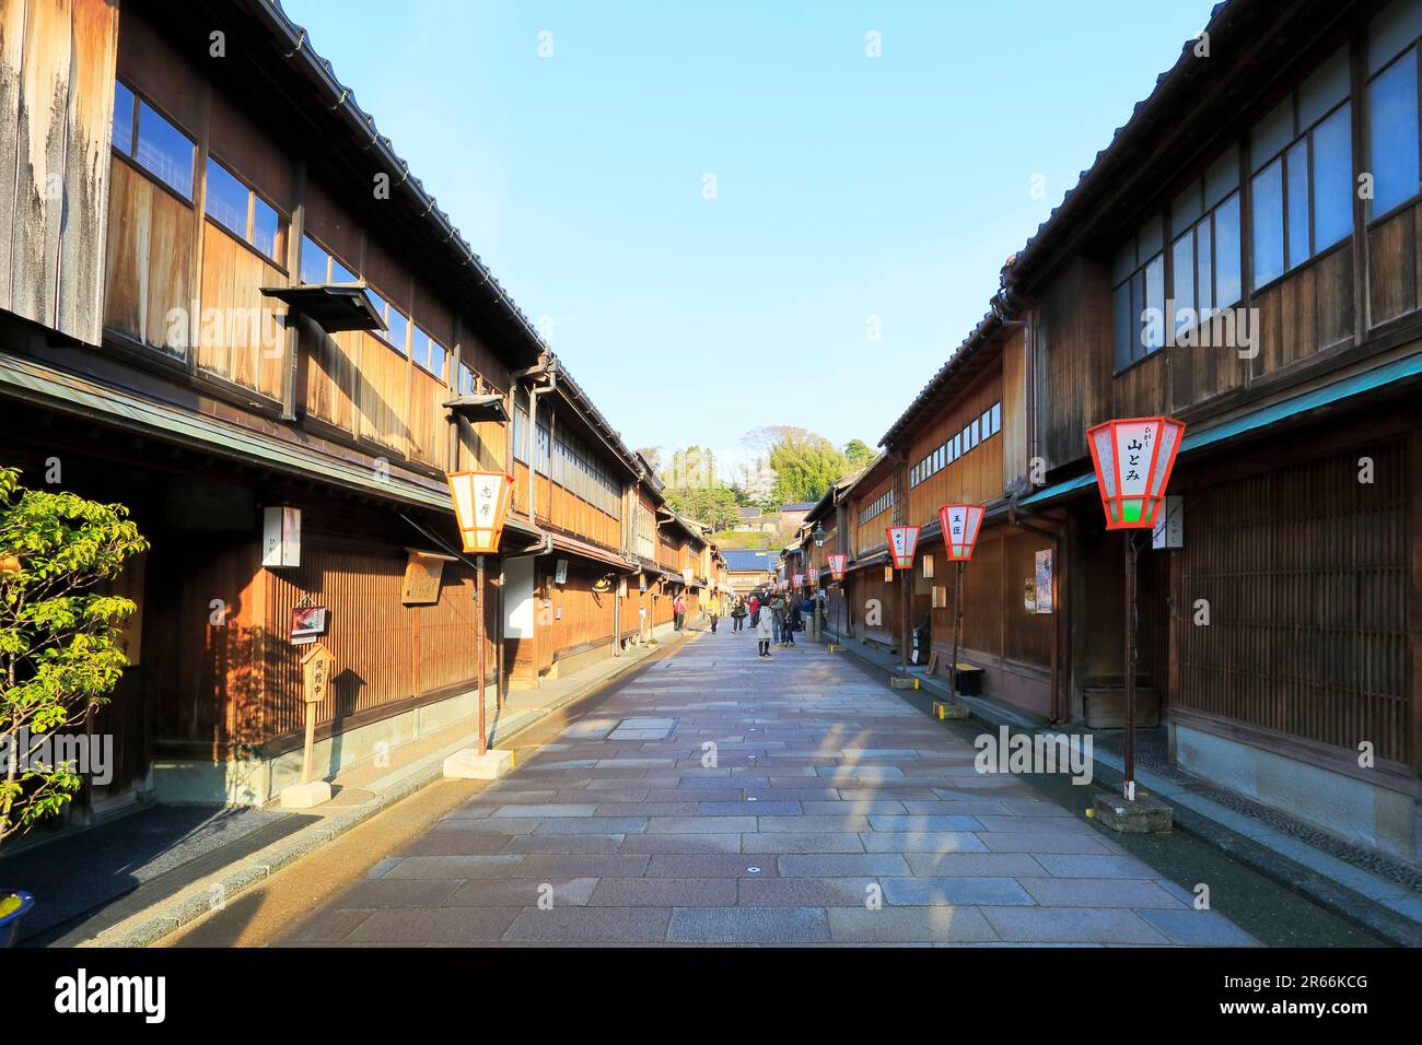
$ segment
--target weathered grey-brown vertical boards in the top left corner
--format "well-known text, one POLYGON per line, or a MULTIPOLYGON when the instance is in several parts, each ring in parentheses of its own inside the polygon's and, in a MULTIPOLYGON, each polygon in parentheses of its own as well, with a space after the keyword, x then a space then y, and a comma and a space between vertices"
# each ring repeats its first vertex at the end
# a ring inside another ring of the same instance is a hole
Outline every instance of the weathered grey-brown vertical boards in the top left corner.
POLYGON ((0 309, 100 343, 112 0, 0 6, 0 309))

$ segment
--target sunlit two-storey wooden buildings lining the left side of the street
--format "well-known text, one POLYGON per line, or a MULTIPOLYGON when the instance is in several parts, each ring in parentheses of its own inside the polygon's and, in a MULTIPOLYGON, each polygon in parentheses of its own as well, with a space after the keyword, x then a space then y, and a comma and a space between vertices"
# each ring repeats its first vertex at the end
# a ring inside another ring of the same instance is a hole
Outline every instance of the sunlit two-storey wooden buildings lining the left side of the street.
POLYGON ((293 782, 297 616, 323 775, 474 714, 476 613, 489 702, 636 636, 643 462, 280 6, 0 0, 0 461, 152 543, 78 812, 293 782))

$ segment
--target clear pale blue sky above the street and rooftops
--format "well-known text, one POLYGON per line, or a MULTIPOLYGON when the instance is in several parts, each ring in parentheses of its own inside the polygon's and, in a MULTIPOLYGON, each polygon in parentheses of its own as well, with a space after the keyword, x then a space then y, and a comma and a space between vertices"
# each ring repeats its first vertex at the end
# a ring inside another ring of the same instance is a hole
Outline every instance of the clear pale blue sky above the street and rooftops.
POLYGON ((729 465, 876 445, 1212 3, 284 7, 627 444, 729 465))

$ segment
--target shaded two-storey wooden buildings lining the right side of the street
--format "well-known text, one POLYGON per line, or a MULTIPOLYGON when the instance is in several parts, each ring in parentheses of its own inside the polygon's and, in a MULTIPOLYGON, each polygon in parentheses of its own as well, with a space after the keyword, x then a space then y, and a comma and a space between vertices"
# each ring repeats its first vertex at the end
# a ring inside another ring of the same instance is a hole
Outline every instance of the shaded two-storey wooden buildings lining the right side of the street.
POLYGON ((1142 702, 1177 765, 1409 862, 1422 846, 1419 53, 1419 0, 1217 6, 1004 269, 993 311, 839 516, 859 567, 850 609, 880 600, 882 633, 863 637, 890 643, 903 603, 877 569, 884 527, 924 527, 909 613, 943 648, 953 587, 934 513, 983 503, 964 658, 990 697, 1109 719, 1125 554, 1085 431, 1185 421, 1180 525, 1162 543, 1183 536, 1139 556, 1142 702))

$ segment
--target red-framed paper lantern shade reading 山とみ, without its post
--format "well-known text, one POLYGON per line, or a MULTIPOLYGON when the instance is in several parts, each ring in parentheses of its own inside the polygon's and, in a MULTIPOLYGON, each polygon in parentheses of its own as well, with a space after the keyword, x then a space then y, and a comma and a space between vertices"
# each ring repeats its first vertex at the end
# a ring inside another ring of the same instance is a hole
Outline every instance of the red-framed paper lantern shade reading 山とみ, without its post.
POLYGON ((1167 417, 1106 421, 1086 429, 1108 530, 1148 530, 1170 482, 1185 422, 1167 417))

